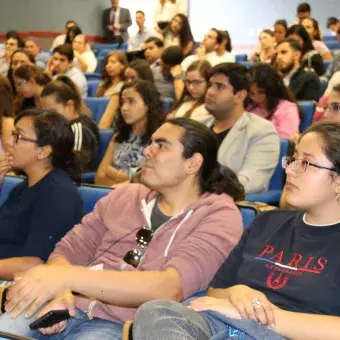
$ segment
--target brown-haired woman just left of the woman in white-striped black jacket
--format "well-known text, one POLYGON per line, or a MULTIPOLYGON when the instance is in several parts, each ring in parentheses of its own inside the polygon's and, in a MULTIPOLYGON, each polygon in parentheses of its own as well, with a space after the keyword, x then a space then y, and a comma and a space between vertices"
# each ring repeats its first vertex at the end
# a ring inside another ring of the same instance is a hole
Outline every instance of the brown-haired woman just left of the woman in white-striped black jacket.
POLYGON ((24 64, 14 72, 17 90, 15 114, 39 107, 41 92, 51 78, 36 65, 24 64))

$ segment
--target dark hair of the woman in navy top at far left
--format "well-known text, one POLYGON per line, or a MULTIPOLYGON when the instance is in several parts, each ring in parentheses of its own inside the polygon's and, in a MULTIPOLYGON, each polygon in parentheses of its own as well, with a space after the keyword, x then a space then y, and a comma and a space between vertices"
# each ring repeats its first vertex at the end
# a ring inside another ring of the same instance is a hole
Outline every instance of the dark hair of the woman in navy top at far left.
POLYGON ((69 121, 54 111, 30 109, 20 112, 14 124, 24 117, 33 120, 37 145, 50 145, 51 164, 54 168, 64 169, 76 182, 80 182, 81 168, 78 157, 73 151, 74 135, 69 121))

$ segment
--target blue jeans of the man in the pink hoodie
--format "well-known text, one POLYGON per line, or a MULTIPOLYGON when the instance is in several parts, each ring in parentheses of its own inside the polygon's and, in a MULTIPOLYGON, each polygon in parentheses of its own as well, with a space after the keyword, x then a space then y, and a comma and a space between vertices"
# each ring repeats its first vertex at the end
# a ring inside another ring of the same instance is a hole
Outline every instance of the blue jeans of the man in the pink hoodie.
MULTIPOLYGON (((67 321, 67 328, 59 334, 43 335, 39 331, 32 331, 29 324, 33 322, 35 317, 25 319, 20 315, 16 319, 12 319, 9 314, 0 317, 0 331, 14 333, 18 335, 28 336, 39 340, 62 340, 62 339, 81 339, 81 340, 120 340, 122 338, 123 324, 107 321, 104 319, 93 318, 90 320, 87 315, 77 309, 76 317, 67 321)), ((0 338, 1 339, 1 338, 0 338)))

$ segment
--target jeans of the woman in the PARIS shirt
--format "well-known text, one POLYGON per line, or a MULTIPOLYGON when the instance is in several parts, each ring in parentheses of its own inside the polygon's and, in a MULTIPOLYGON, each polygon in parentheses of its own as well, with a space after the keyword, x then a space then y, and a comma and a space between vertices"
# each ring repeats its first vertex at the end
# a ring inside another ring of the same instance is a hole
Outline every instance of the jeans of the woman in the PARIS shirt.
POLYGON ((282 340, 254 320, 235 320, 215 312, 196 313, 173 301, 150 301, 138 308, 133 323, 136 340, 282 340))

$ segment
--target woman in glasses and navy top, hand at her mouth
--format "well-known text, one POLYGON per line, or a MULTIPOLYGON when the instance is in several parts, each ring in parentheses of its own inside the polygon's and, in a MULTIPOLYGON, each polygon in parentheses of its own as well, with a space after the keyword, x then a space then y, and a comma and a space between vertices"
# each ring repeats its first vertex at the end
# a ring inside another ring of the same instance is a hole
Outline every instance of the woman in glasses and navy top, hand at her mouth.
POLYGON ((73 133, 61 115, 37 109, 15 117, 8 151, 0 155, 0 183, 14 168, 27 178, 0 206, 0 280, 13 280, 47 260, 82 217, 73 133))

